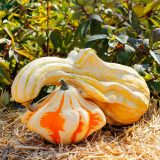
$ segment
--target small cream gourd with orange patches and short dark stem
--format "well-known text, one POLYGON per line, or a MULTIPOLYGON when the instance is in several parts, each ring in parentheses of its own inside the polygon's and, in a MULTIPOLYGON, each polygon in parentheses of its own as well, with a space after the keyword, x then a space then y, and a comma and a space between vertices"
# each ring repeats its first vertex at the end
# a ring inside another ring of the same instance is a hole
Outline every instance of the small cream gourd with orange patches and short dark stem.
POLYGON ((106 124, 101 109, 62 80, 51 95, 27 111, 22 122, 52 143, 76 143, 106 124))

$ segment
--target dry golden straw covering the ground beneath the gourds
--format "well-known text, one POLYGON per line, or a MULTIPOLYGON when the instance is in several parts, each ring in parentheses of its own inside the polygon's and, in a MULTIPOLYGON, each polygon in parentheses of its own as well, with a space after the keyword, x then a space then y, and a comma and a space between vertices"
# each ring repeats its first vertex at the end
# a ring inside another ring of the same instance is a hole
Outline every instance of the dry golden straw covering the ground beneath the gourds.
POLYGON ((22 111, 0 108, 2 160, 160 160, 160 108, 152 102, 141 120, 125 127, 106 125, 83 142, 54 145, 29 132, 22 111))

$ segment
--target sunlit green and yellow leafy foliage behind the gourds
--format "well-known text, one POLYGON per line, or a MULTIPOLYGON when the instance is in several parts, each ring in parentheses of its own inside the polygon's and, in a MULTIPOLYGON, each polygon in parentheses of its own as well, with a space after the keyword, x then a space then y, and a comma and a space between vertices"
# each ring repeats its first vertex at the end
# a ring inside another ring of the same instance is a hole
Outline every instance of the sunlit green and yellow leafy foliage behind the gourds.
POLYGON ((135 68, 159 99, 159 0, 1 0, 0 103, 9 104, 12 81, 30 61, 86 47, 135 68))

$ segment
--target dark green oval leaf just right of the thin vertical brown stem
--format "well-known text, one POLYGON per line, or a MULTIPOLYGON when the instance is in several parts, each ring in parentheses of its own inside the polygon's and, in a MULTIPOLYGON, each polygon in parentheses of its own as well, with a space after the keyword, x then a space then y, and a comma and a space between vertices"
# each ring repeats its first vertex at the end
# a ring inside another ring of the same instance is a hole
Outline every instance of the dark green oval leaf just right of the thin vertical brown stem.
POLYGON ((55 49, 62 48, 62 37, 57 30, 51 32, 50 39, 55 49))

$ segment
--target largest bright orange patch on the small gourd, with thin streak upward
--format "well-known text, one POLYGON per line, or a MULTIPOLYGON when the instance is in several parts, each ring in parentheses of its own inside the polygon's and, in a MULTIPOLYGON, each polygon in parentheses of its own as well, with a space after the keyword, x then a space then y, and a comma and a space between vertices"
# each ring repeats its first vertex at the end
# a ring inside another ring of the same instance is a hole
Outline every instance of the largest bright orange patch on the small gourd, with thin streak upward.
POLYGON ((64 94, 62 96, 61 103, 57 111, 45 113, 40 121, 41 126, 49 130, 49 132, 51 132, 50 137, 55 143, 61 142, 61 137, 59 135, 59 132, 64 131, 65 119, 61 115, 63 104, 64 104, 64 94))

